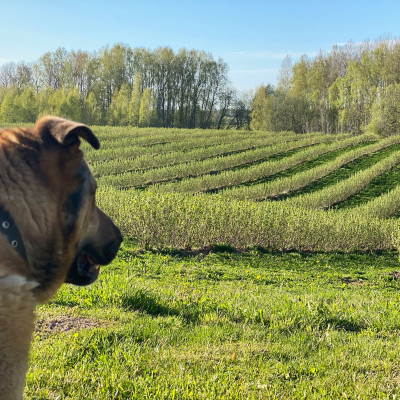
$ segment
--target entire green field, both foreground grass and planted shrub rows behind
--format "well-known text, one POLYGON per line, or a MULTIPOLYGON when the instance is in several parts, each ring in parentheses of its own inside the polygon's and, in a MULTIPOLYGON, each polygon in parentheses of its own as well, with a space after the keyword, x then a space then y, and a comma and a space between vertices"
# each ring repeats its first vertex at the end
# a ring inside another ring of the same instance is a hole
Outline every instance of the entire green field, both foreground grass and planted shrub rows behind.
POLYGON ((38 308, 27 398, 400 397, 400 136, 94 130, 126 240, 38 308))

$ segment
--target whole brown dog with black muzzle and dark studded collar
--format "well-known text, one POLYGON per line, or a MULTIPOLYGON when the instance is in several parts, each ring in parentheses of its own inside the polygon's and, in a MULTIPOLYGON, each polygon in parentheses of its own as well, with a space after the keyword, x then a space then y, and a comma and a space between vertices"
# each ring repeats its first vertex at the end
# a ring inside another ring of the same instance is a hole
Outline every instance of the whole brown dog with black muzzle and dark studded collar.
POLYGON ((94 282, 117 254, 119 229, 95 205, 79 149, 83 124, 41 118, 0 130, 0 399, 22 399, 34 307, 64 283, 94 282))

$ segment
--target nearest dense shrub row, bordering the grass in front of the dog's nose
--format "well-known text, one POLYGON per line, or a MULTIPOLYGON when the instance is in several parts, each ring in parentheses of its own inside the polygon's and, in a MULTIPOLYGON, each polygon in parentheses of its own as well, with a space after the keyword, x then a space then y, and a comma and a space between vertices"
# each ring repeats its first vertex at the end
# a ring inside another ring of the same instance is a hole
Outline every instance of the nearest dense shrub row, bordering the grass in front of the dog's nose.
POLYGON ((161 194, 103 187, 99 205, 142 248, 202 249, 226 244, 298 251, 375 251, 395 247, 399 224, 355 210, 308 210, 221 195, 161 194))

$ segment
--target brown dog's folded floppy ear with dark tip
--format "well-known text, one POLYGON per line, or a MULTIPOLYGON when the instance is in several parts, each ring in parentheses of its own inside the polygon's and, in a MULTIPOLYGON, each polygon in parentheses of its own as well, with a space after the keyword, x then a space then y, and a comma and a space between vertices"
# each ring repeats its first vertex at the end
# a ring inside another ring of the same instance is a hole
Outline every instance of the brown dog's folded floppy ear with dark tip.
POLYGON ((91 129, 80 122, 70 121, 64 118, 46 116, 40 118, 34 130, 41 137, 50 134, 63 146, 79 143, 79 138, 85 139, 93 148, 98 149, 100 142, 91 129))

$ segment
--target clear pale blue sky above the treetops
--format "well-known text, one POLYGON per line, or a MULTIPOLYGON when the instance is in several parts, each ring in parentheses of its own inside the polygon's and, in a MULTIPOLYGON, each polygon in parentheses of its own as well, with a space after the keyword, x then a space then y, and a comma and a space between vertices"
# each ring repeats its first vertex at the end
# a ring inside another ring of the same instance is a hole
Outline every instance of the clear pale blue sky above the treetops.
POLYGON ((287 54, 400 37, 398 0, 0 0, 0 15, 0 64, 58 47, 185 47, 222 57, 239 90, 276 84, 287 54))

